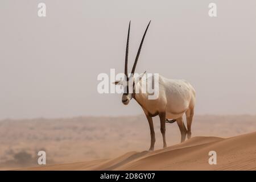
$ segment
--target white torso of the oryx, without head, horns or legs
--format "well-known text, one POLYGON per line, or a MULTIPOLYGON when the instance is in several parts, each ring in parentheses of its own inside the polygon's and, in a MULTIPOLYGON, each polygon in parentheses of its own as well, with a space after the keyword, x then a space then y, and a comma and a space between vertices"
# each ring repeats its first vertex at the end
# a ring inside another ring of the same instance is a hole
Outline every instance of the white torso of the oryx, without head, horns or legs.
MULTIPOLYGON (((152 82, 152 76, 147 78, 152 82)), ((140 88, 140 82, 137 82, 140 88)), ((142 106, 145 114, 158 115, 166 113, 166 119, 177 119, 195 106, 195 89, 185 80, 173 80, 159 75, 159 96, 155 100, 148 99, 148 93, 135 90, 135 100, 142 106)))

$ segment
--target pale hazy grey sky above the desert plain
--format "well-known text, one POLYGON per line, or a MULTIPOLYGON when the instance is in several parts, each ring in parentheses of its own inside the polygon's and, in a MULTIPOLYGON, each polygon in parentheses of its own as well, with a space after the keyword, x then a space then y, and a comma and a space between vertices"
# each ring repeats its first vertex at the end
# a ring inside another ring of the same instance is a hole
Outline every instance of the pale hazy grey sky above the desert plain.
POLYGON ((142 113, 98 94, 97 75, 129 68, 188 80, 196 114, 256 114, 256 1, 0 1, 0 118, 142 113), (47 16, 38 17, 38 3, 47 16), (217 17, 208 16, 210 2, 217 17))

